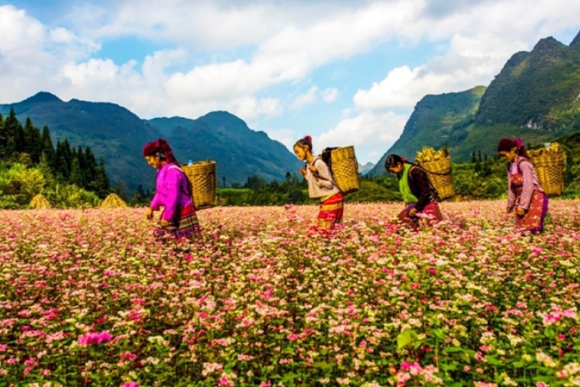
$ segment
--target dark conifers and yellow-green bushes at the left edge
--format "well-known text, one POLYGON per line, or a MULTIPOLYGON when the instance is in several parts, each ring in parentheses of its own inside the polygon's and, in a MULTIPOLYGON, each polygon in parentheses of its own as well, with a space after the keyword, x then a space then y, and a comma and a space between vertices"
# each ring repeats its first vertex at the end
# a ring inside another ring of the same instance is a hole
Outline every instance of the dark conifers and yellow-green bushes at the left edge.
POLYGON ((55 147, 48 126, 40 131, 30 117, 22 125, 13 108, 0 113, 0 208, 26 207, 37 193, 55 207, 95 205, 111 191, 104 158, 90 147, 55 147))

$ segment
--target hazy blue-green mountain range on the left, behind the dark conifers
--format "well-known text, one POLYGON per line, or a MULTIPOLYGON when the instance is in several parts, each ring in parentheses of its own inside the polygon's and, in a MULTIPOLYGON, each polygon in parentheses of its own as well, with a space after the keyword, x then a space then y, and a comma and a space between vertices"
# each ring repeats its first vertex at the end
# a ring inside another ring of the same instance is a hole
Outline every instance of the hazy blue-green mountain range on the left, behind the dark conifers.
POLYGON ((301 166, 280 142, 249 129, 244 121, 224 111, 197 120, 142 120, 117 104, 64 102, 46 92, 14 104, 0 104, 3 115, 8 115, 10 108, 21 122, 30 117, 40 128, 47 125, 55 144, 68 139, 72 147, 90 147, 97 158, 104 157, 111 182, 124 182, 131 191, 138 185, 154 188, 155 170, 144 161, 142 149, 157 138, 166 138, 182 163, 215 160, 218 180, 221 183, 225 178, 227 185, 243 184, 252 175, 281 181, 288 171, 296 172, 301 166))

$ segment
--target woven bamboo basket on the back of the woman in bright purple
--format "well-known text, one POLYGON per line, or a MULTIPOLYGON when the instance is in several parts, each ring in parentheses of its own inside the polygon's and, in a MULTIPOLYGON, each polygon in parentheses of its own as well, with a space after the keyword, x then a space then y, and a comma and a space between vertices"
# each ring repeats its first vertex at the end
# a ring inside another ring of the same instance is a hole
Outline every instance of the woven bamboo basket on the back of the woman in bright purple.
POLYGON ((197 161, 193 164, 183 164, 182 170, 191 183, 191 196, 195 209, 215 206, 218 180, 215 178, 215 161, 197 161))

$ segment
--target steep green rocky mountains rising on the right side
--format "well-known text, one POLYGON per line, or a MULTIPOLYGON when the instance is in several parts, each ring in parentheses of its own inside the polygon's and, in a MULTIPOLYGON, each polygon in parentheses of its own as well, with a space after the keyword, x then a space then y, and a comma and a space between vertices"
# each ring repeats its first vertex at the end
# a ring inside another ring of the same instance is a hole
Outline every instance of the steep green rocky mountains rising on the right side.
POLYGON ((452 160, 473 151, 495 155, 503 137, 526 144, 580 131, 580 32, 569 46, 552 37, 505 63, 487 88, 427 95, 418 102, 400 138, 369 174, 383 173, 389 153, 409 160, 423 145, 450 147, 452 160))

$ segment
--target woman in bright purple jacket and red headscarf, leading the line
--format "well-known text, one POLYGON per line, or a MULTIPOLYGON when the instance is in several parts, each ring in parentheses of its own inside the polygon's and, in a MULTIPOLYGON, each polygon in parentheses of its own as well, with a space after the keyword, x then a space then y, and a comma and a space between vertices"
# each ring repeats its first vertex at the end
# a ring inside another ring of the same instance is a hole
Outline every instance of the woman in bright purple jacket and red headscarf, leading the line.
POLYGON ((143 148, 143 156, 147 164, 157 169, 155 196, 146 217, 153 219, 153 211, 163 207, 153 234, 158 238, 172 236, 177 239, 200 234, 200 223, 193 207, 187 177, 180 169, 169 144, 162 138, 148 142, 143 148))

